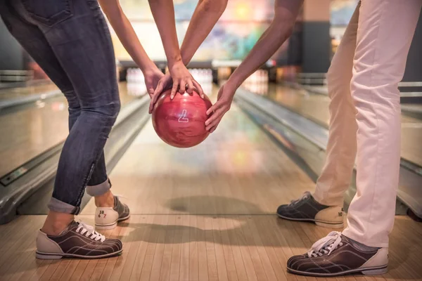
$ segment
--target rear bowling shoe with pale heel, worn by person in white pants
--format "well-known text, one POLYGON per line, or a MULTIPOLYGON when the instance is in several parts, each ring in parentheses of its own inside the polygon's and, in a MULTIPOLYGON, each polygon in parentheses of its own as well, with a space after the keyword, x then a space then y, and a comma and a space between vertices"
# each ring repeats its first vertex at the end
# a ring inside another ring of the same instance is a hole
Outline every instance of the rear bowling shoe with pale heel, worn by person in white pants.
POLYGON ((326 228, 343 228, 343 209, 319 204, 309 191, 300 199, 281 205, 277 215, 290 221, 312 221, 326 228))

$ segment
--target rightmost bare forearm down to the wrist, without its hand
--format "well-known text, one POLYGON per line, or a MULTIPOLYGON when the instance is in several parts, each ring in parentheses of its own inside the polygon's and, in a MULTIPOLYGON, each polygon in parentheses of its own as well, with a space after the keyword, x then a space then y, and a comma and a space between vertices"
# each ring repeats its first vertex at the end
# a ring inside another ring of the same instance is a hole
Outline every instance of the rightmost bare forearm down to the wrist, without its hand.
POLYGON ((245 60, 229 78, 228 83, 238 88, 246 78, 263 65, 290 37, 303 0, 276 1, 276 16, 262 34, 245 60))

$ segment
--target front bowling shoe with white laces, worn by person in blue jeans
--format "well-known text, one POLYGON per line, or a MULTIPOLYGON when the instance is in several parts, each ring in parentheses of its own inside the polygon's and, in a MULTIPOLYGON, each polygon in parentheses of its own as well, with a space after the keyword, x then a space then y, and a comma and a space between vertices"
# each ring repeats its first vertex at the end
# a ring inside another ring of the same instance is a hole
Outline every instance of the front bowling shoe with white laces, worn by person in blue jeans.
POLYGON ((39 230, 37 259, 100 259, 122 252, 122 242, 106 239, 92 226, 72 221, 59 235, 47 235, 39 230))

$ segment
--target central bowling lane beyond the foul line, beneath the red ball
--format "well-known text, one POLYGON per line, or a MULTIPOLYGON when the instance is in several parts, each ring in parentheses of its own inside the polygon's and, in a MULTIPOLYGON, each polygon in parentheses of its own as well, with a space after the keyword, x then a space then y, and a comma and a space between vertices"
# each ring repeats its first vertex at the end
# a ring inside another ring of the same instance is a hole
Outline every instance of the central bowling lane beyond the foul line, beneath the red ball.
MULTIPOLYGON (((212 93, 215 100, 217 87, 212 93)), ((132 214, 274 214, 314 188, 236 105, 215 133, 188 149, 163 143, 148 122, 110 179, 132 214)), ((94 211, 91 200, 82 214, 94 211)))

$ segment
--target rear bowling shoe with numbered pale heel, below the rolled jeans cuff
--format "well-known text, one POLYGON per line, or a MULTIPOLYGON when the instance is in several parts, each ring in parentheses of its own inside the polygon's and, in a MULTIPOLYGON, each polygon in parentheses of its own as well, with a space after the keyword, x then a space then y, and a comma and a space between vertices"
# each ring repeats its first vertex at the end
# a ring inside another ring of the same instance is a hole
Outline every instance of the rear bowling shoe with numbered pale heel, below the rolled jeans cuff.
POLYGON ((117 226, 117 222, 124 221, 130 216, 129 207, 114 197, 114 207, 97 207, 95 211, 95 228, 109 230, 117 226))

